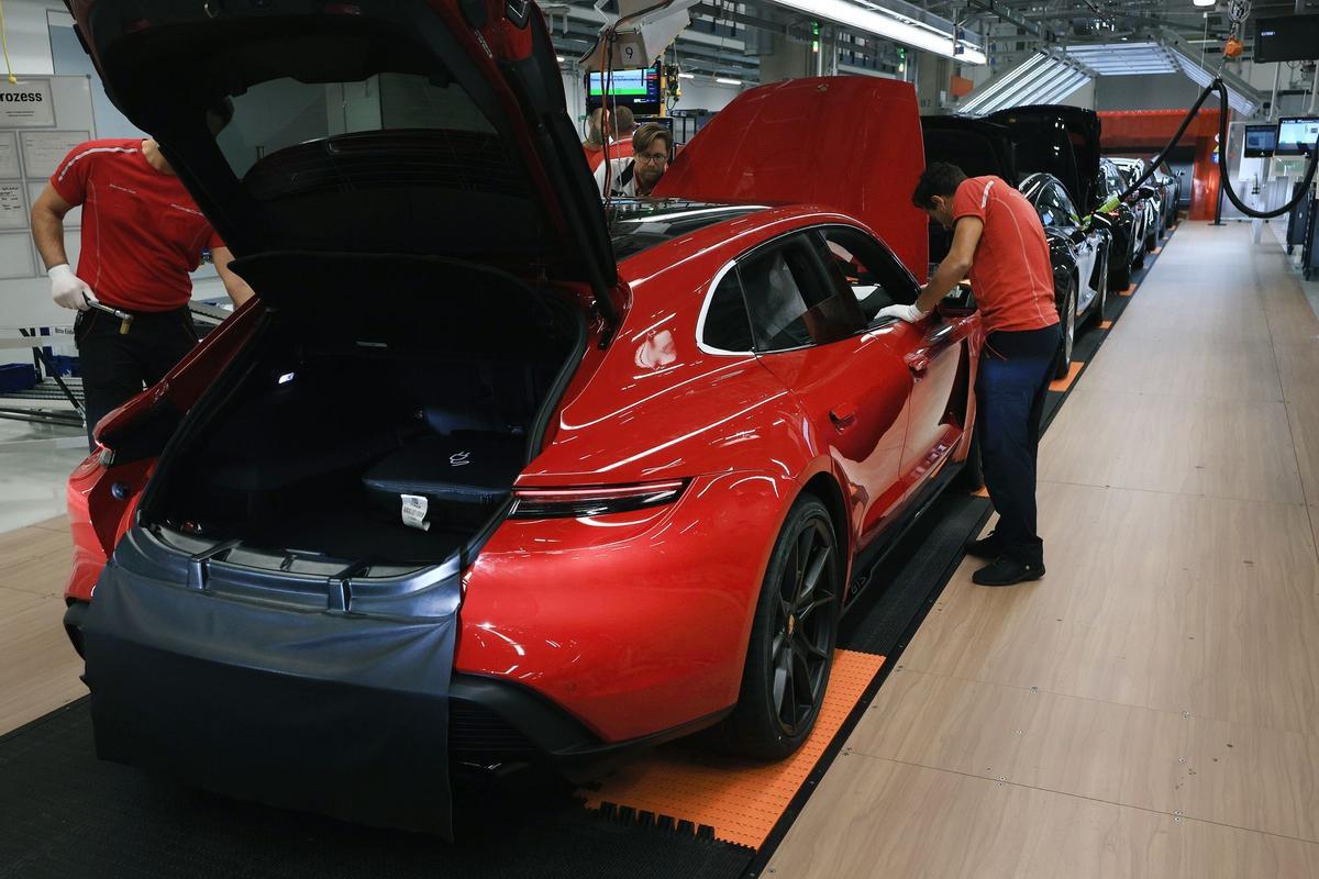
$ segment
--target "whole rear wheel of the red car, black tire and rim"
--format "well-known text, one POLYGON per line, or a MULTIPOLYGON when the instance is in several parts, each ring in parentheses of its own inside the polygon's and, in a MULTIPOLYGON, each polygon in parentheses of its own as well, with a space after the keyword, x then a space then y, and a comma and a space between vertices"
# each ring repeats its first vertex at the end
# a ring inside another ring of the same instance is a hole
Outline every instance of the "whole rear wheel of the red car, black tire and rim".
POLYGON ((769 556, 737 706, 719 730, 724 750, 781 760, 815 727, 834 664, 843 568, 828 510, 801 496, 769 556))

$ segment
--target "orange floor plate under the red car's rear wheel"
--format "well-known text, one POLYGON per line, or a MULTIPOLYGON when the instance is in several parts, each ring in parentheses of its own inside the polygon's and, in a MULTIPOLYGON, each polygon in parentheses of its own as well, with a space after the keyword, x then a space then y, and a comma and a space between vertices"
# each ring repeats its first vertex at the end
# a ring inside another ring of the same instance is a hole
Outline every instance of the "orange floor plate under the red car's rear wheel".
POLYGON ((587 808, 608 803, 675 822, 691 821, 714 828, 716 839, 758 849, 881 666, 884 656, 835 652, 815 729, 786 760, 740 762, 678 742, 624 767, 599 789, 582 791, 587 808))

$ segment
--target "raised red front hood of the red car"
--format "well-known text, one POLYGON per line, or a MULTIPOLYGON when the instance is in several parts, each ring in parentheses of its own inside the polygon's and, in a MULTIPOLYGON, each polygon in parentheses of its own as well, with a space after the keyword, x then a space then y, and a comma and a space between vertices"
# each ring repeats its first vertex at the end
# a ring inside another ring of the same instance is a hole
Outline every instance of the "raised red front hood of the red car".
POLYGON ((869 225, 911 273, 927 270, 925 167, 910 83, 791 79, 744 91, 678 154, 656 196, 816 204, 869 225))

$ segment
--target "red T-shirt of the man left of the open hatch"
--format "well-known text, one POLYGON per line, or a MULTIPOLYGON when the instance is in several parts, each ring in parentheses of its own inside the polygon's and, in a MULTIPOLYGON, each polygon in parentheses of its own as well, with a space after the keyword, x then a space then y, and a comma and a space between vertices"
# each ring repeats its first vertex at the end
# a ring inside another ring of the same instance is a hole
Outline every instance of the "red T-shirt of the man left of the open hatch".
POLYGON ((82 204, 78 277, 96 298, 129 311, 187 304, 202 250, 224 246, 173 174, 146 162, 141 140, 80 144, 50 178, 59 198, 82 204))

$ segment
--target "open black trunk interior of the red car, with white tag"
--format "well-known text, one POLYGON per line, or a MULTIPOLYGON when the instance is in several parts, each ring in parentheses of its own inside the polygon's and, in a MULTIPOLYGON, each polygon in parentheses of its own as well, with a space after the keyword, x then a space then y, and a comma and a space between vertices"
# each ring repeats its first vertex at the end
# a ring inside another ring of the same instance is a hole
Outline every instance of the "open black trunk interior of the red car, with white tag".
POLYGON ((298 262, 245 277, 264 300, 295 277, 307 289, 309 271, 356 295, 268 300, 266 326, 162 457, 141 522, 236 540, 231 556, 273 553, 281 569, 443 561, 503 514, 538 451, 580 310, 421 258, 298 262))

